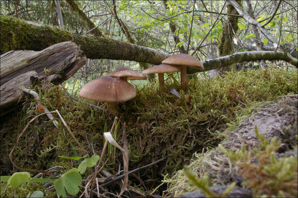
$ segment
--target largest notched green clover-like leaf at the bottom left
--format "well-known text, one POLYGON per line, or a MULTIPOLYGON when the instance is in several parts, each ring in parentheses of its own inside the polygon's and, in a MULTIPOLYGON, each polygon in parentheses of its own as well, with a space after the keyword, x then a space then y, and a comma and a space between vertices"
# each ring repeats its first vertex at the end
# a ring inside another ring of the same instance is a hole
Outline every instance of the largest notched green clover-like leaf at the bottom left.
POLYGON ((82 176, 79 173, 77 168, 73 168, 56 180, 54 182, 54 187, 58 196, 67 197, 64 187, 66 191, 71 195, 76 195, 79 192, 79 187, 82 184, 82 176))

